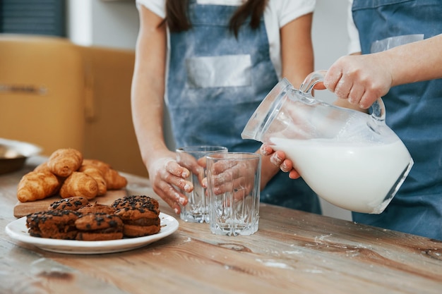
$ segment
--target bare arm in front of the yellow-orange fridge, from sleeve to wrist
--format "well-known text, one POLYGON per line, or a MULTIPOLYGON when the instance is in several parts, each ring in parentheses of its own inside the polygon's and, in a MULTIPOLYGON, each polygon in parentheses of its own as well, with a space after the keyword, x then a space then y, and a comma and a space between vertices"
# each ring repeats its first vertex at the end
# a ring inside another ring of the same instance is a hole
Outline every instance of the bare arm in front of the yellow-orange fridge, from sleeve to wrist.
POLYGON ((143 162, 148 166, 155 152, 167 149, 163 136, 166 29, 162 19, 144 8, 136 43, 131 89, 133 127, 143 162))

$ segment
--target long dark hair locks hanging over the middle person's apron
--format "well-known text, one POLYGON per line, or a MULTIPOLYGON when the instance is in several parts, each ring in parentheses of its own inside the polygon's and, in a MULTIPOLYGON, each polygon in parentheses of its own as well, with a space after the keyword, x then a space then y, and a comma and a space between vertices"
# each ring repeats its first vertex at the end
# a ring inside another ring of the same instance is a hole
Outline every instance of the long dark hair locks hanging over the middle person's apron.
MULTIPOLYGON (((237 37, 239 27, 250 16, 250 26, 253 29, 259 27, 261 16, 263 16, 265 5, 268 0, 247 0, 238 7, 230 19, 229 29, 237 37)), ((165 22, 170 32, 182 32, 192 27, 188 15, 189 0, 167 0, 165 22)))

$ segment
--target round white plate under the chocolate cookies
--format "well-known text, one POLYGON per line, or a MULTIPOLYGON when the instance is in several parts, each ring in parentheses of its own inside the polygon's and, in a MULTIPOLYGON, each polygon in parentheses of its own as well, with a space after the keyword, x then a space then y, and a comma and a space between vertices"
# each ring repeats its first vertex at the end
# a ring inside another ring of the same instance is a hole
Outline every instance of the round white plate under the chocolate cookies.
POLYGON ((34 245, 42 250, 76 255, 95 255, 140 248, 171 235, 179 227, 177 219, 162 212, 160 212, 160 221, 161 230, 154 235, 107 241, 57 240, 32 237, 26 227, 26 216, 8 223, 5 231, 14 240, 34 245))

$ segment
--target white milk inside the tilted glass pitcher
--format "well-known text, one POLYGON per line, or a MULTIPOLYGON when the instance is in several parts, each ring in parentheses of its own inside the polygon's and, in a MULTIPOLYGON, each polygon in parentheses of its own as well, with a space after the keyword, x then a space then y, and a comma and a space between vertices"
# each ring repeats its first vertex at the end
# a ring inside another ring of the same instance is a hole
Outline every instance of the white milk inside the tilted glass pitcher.
POLYGON ((318 196, 353 212, 381 213, 394 195, 387 197, 391 188, 407 166, 411 168, 410 153, 400 140, 385 145, 324 139, 271 141, 318 196))

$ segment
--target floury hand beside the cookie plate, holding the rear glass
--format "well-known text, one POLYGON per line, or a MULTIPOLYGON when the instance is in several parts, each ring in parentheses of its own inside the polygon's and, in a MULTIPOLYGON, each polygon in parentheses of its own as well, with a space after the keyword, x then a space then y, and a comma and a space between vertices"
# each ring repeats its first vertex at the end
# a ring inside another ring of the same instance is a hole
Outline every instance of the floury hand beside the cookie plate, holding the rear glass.
POLYGON ((154 192, 165 200, 176 214, 180 214, 180 204, 186 205, 188 202, 181 190, 191 192, 193 185, 186 180, 190 176, 189 169, 180 166, 175 158, 174 152, 163 152, 149 164, 148 172, 154 192))

